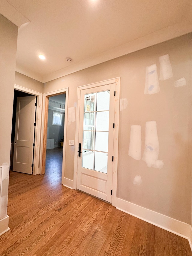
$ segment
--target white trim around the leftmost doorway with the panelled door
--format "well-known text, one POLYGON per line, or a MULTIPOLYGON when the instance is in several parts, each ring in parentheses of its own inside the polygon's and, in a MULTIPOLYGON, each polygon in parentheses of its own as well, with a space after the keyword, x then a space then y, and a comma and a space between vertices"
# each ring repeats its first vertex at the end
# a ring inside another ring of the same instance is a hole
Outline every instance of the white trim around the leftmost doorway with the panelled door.
POLYGON ((26 87, 22 87, 19 85, 14 86, 14 89, 20 92, 26 92, 37 96, 37 114, 36 114, 36 129, 35 129, 35 149, 34 149, 34 167, 33 167, 33 175, 40 173, 40 143, 41 143, 41 113, 42 113, 42 100, 43 94, 40 92, 33 91, 26 87))

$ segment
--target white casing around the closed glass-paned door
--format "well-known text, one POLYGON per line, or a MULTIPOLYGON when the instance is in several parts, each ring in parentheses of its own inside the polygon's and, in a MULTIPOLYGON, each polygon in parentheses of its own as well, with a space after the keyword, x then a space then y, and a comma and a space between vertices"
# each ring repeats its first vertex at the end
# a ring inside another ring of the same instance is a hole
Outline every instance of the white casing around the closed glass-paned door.
POLYGON ((77 88, 77 112, 76 112, 76 134, 75 134, 75 157, 74 157, 74 174, 73 174, 73 189, 77 189, 77 166, 78 166, 78 143, 79 143, 79 116, 80 116, 80 94, 82 90, 104 86, 115 83, 115 129, 114 129, 114 146, 113 146, 113 179, 112 179, 112 205, 116 206, 117 198, 117 168, 118 168, 118 140, 119 140, 119 96, 120 96, 120 77, 92 83, 77 88))

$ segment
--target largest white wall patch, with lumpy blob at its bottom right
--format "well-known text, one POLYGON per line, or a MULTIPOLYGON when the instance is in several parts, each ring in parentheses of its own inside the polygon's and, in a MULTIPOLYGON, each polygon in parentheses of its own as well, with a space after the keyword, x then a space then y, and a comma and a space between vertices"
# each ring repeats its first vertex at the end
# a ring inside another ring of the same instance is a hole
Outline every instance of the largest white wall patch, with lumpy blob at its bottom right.
POLYGON ((157 134, 156 121, 146 122, 145 128, 145 148, 143 153, 143 161, 148 167, 155 167, 161 169, 164 162, 158 160, 159 156, 159 140, 157 134))

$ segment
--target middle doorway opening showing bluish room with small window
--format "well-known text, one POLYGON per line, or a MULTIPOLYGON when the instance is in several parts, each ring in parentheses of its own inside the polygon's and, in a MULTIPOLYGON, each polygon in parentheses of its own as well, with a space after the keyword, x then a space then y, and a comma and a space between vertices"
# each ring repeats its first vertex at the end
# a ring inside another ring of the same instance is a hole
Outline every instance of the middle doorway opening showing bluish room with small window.
POLYGON ((48 98, 45 172, 57 176, 62 174, 65 98, 65 93, 48 98))

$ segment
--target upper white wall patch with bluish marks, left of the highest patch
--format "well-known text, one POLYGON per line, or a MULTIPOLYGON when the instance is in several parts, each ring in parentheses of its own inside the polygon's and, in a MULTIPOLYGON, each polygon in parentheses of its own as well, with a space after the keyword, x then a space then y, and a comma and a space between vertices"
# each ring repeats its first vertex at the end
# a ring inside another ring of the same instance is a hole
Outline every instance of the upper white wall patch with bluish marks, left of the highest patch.
POLYGON ((145 90, 144 94, 154 94, 159 92, 159 79, 157 74, 157 65, 153 64, 146 67, 145 90))

